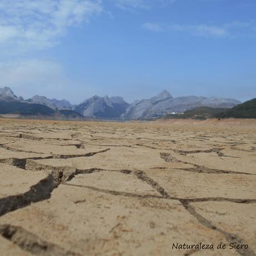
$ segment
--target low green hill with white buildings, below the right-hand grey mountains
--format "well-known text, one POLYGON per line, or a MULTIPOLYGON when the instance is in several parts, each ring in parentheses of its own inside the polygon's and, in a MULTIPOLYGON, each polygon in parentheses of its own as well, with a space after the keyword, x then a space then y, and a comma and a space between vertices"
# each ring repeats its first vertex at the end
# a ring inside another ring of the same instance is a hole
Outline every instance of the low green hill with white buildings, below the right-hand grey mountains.
POLYGON ((167 114, 164 116, 164 119, 171 118, 179 118, 179 119, 209 119, 214 117, 214 115, 219 114, 221 112, 225 112, 228 109, 220 108, 220 107, 196 107, 195 109, 186 110, 184 114, 175 114, 170 115, 167 114))

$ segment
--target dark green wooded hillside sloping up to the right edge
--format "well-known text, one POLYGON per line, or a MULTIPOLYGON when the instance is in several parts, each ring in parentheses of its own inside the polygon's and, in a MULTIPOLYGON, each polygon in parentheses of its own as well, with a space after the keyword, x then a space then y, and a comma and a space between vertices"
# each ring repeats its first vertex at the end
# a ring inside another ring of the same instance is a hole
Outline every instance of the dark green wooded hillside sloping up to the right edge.
POLYGON ((256 98, 215 115, 218 118, 256 118, 256 98))

